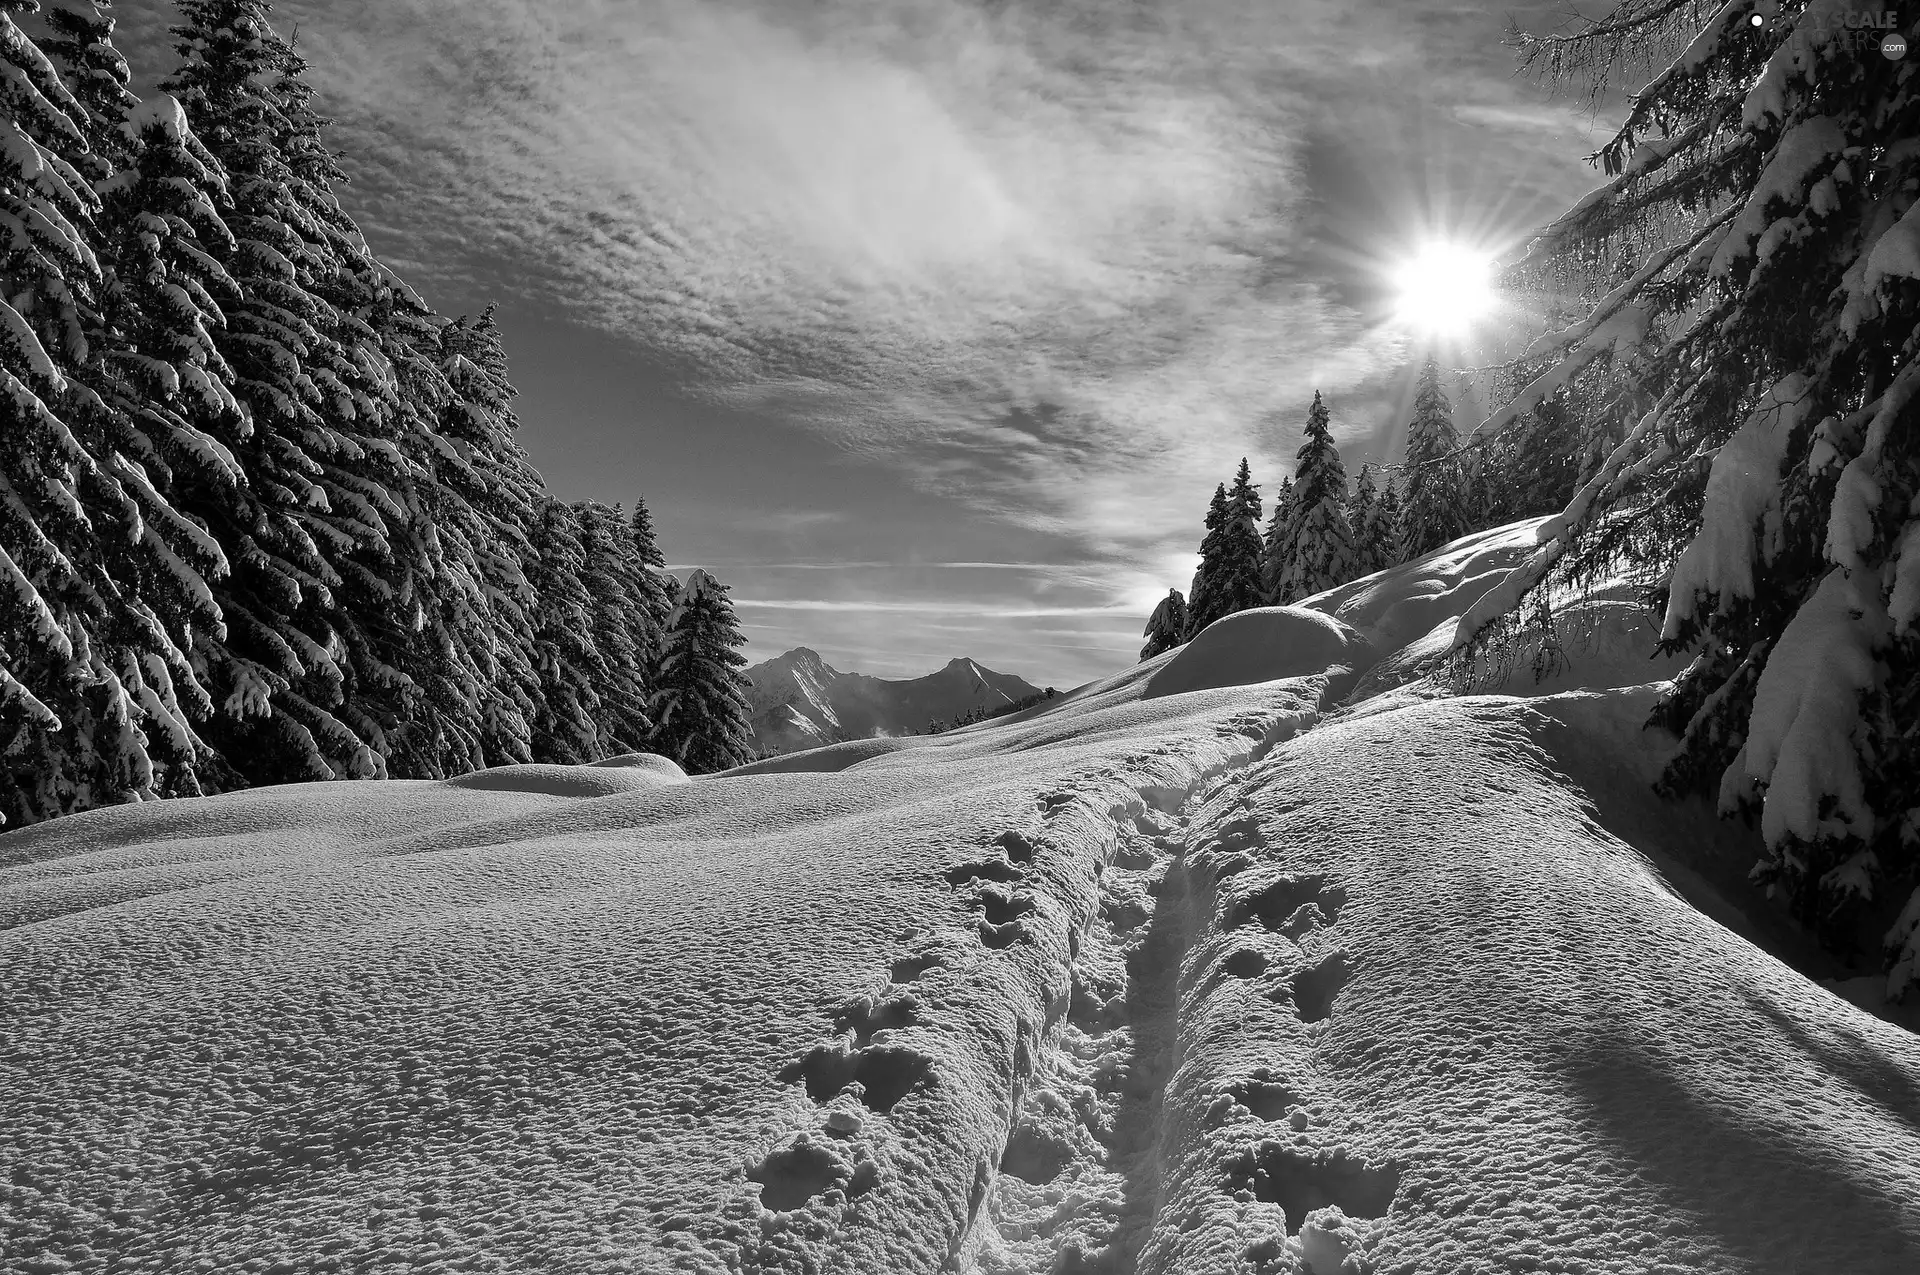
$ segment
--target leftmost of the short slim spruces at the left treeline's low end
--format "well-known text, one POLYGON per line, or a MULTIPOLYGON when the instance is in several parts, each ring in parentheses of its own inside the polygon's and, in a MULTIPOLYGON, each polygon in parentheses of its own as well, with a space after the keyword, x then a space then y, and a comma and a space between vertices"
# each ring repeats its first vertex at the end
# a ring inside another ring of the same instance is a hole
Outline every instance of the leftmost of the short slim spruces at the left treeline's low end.
POLYGON ((532 534, 530 576, 540 599, 534 622, 534 760, 578 766, 601 751, 601 687, 607 662, 593 645, 593 595, 588 591, 580 515, 545 497, 532 534))

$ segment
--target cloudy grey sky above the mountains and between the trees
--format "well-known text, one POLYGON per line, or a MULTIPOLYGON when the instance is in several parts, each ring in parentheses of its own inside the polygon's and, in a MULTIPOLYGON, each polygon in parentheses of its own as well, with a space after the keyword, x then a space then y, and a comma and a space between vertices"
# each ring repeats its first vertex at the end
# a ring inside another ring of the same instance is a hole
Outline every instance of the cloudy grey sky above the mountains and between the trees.
MULTIPOLYGON (((1594 6, 1582 6, 1594 12, 1594 6)), ((1315 390, 1398 459, 1382 263, 1596 184, 1509 19, 1421 0, 282 0, 369 240, 499 307, 563 497, 653 509, 753 661, 1116 672, 1315 390)), ((169 6, 119 0, 150 84, 169 6)), ((1450 351, 1453 363, 1473 351, 1450 351)), ((1461 415, 1459 424, 1471 426, 1461 415)))

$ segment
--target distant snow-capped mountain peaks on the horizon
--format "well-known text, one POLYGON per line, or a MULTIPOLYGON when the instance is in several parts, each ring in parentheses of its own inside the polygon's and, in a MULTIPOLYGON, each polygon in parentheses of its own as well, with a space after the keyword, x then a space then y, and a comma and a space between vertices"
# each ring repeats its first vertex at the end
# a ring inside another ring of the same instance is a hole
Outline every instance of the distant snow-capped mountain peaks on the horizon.
POLYGON ((970 659, 948 661, 924 678, 870 678, 839 672, 808 647, 755 664, 747 678, 755 747, 774 753, 922 732, 927 722, 1000 709, 1041 689, 970 659))

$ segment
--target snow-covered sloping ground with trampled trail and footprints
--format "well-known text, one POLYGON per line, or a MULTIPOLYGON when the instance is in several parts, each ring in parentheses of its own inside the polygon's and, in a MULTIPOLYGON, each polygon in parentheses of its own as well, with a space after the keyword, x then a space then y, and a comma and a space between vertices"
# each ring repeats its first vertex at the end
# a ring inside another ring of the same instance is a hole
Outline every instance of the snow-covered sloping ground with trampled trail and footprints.
POLYGON ((8 833, 0 1269, 1920 1269, 1920 1039, 1647 795, 1647 622, 1419 678, 1532 538, 947 735, 8 833))

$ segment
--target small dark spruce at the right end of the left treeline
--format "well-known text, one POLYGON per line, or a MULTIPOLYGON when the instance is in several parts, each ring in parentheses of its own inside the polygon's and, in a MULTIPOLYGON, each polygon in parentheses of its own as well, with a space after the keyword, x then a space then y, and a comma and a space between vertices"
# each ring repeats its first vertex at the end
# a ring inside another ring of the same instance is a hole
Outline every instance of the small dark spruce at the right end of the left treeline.
POLYGON ((751 689, 739 647, 747 638, 733 618, 724 584, 695 570, 674 597, 666 655, 653 691, 653 751, 687 774, 732 770, 753 760, 751 689))

